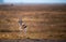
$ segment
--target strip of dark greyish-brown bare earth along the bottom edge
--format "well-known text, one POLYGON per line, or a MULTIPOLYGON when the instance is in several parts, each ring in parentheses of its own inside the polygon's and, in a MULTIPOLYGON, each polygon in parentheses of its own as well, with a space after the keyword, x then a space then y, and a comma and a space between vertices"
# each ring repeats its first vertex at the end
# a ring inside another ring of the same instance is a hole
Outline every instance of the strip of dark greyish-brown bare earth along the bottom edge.
POLYGON ((19 39, 19 40, 0 40, 0 42, 66 42, 66 40, 19 39))

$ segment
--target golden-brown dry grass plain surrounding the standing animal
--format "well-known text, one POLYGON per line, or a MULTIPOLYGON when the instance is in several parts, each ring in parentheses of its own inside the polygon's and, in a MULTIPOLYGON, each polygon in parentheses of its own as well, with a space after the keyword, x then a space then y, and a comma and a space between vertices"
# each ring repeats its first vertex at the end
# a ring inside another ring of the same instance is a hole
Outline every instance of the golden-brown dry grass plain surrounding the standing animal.
MULTIPOLYGON (((66 6, 66 5, 65 5, 66 6)), ((23 39, 19 36, 18 20, 28 25, 31 39, 66 39, 66 8, 62 5, 0 5, 0 39, 23 39), (10 30, 10 31, 9 31, 10 30), (12 32, 13 31, 13 32, 12 32)))

